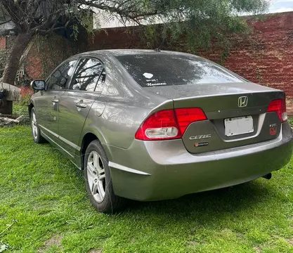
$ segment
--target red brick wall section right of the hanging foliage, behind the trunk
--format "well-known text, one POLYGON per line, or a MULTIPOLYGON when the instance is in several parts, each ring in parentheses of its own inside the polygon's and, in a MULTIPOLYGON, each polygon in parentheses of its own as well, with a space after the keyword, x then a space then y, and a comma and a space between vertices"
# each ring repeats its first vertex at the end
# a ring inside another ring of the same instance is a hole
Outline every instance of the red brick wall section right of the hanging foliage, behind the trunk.
POLYGON ((252 82, 285 91, 293 114, 293 12, 248 22, 254 35, 238 38, 224 65, 252 82))

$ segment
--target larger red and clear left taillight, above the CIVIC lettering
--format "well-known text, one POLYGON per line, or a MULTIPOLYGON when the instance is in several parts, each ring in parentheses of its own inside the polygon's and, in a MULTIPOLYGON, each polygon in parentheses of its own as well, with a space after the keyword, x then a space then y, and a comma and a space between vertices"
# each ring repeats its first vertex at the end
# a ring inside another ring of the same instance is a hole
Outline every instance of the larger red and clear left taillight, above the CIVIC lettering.
POLYGON ((207 117, 199 108, 162 110, 145 119, 135 137, 143 141, 178 139, 190 123, 204 119, 207 117))

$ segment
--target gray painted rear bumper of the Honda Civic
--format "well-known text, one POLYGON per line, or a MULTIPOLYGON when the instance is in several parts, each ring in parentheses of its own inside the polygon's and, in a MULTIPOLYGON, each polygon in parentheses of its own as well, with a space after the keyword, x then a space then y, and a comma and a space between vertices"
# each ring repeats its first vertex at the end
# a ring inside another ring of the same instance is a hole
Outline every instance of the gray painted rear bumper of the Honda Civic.
POLYGON ((134 141, 126 150, 111 147, 109 165, 116 195, 166 200, 258 179, 284 167, 292 150, 292 130, 283 124, 275 140, 197 155, 182 140, 134 141))

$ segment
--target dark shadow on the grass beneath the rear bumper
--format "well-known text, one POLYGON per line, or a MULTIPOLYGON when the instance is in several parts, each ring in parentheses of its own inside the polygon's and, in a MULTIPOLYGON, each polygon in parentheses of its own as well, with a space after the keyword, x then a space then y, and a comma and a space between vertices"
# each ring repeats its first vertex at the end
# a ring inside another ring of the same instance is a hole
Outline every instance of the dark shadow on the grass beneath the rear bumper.
MULTIPOLYGON (((253 213, 261 212, 259 209, 266 207, 274 196, 273 188, 259 181, 252 181, 230 188, 185 195, 176 200, 131 201, 129 208, 118 216, 131 219, 129 214, 132 214, 148 221, 162 219, 161 224, 166 223, 166 219, 183 223, 193 219, 207 225, 216 223, 216 220, 231 219, 231 217, 239 219, 242 215, 247 218, 253 213)), ((157 226, 158 222, 154 224, 157 226)))

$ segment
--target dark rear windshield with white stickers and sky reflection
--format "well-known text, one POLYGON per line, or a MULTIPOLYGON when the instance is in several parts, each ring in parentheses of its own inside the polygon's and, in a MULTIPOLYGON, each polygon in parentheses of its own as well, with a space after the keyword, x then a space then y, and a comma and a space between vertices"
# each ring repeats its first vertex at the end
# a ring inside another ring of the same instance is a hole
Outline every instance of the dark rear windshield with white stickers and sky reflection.
POLYGON ((214 63, 196 56, 140 54, 117 56, 143 87, 243 82, 214 63))

